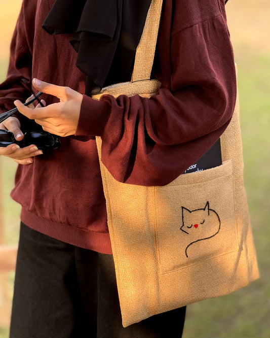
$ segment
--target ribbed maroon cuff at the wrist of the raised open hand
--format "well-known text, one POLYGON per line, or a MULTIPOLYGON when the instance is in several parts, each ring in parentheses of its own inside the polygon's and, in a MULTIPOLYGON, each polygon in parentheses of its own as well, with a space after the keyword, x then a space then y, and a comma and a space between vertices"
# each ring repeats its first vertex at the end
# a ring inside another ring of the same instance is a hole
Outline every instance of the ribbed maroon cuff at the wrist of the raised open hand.
POLYGON ((97 101, 84 94, 75 135, 102 136, 109 114, 110 105, 108 102, 97 101))

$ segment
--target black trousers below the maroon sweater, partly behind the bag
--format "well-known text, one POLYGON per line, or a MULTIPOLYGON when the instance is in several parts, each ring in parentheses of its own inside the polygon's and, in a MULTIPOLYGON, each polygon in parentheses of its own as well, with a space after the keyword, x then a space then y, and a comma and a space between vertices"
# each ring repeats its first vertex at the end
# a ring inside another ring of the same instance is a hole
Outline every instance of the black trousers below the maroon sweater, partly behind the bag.
POLYGON ((21 224, 10 338, 181 337, 185 308, 122 326, 111 255, 21 224))

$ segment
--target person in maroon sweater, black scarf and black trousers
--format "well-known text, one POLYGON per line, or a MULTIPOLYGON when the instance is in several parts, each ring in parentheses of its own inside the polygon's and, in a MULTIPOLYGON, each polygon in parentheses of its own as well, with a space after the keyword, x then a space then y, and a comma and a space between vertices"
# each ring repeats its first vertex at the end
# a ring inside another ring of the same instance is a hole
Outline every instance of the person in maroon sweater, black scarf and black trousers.
POLYGON ((91 94, 129 81, 150 0, 23 0, 11 43, 1 124, 56 134, 59 149, 10 144, 22 206, 10 336, 179 337, 185 308, 123 328, 95 137, 115 179, 166 185, 221 136, 236 74, 224 0, 164 0, 151 98, 91 94), (25 107, 30 95, 41 104, 25 107), (42 107, 44 106, 44 107, 42 107))

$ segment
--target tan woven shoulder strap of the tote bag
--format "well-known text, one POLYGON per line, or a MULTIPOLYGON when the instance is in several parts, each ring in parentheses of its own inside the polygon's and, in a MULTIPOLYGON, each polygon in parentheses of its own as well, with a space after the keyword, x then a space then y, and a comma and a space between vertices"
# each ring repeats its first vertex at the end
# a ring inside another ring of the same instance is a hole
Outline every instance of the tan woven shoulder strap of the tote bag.
POLYGON ((136 49, 131 82, 149 80, 158 39, 163 0, 152 0, 145 20, 141 40, 136 49))

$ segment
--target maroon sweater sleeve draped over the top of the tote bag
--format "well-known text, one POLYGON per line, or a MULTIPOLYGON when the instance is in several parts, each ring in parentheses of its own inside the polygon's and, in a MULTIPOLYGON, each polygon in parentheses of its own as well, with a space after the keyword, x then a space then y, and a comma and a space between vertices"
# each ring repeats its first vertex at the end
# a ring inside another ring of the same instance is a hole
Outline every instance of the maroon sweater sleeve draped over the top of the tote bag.
POLYGON ((168 40, 170 80, 168 85, 157 74, 157 95, 103 95, 99 102, 84 96, 76 133, 102 137, 102 162, 120 182, 168 184, 216 142, 232 118, 235 64, 220 3, 218 13, 159 38, 161 60, 168 40))

